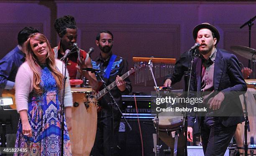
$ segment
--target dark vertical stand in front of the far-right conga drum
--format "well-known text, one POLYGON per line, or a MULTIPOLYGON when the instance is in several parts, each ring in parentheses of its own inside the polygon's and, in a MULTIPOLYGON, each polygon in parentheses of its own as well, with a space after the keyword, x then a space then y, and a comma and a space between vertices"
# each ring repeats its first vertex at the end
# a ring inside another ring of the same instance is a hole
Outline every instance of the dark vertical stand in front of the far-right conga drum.
POLYGON ((244 119, 245 119, 245 123, 244 123, 245 140, 244 140, 244 142, 245 143, 243 145, 243 148, 244 148, 244 155, 247 156, 248 155, 247 130, 248 130, 248 132, 250 131, 250 124, 249 124, 249 120, 248 120, 247 104, 246 104, 246 99, 245 99, 244 94, 243 94, 243 103, 244 103, 244 108, 245 108, 245 111, 244 111, 244 119))

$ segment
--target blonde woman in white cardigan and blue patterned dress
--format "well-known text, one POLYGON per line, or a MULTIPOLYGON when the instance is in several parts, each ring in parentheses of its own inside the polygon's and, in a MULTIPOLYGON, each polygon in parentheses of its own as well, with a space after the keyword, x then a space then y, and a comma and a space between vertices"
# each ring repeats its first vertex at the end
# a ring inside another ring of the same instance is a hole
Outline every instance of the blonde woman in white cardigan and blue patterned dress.
MULTIPOLYGON (((20 66, 15 79, 15 99, 20 113, 15 147, 27 148, 29 155, 58 156, 63 63, 54 58, 49 41, 41 33, 34 33, 28 38, 25 53, 26 62, 20 66)), ((72 106, 68 73, 67 78, 64 99, 65 156, 72 155, 68 133, 71 127, 66 125, 66 121, 71 121, 72 106)))

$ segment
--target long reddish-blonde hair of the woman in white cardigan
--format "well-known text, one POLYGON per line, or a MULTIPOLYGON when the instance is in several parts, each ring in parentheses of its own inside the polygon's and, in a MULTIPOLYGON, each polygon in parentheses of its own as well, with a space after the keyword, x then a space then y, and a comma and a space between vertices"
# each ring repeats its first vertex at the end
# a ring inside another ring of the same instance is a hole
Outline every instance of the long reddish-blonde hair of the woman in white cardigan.
POLYGON ((51 71, 57 87, 59 90, 61 90, 61 83, 63 80, 63 75, 57 70, 56 68, 56 63, 55 63, 55 58, 54 58, 54 53, 51 51, 51 45, 45 35, 41 33, 33 33, 29 36, 28 40, 25 43, 25 49, 24 52, 26 54, 26 61, 28 62, 28 65, 30 66, 31 70, 33 71, 33 88, 36 93, 42 93, 41 88, 40 88, 40 82, 41 82, 41 67, 40 63, 38 62, 38 59, 36 55, 33 53, 33 50, 30 45, 30 40, 38 40, 38 41, 44 41, 47 44, 47 56, 46 56, 46 65, 51 71))

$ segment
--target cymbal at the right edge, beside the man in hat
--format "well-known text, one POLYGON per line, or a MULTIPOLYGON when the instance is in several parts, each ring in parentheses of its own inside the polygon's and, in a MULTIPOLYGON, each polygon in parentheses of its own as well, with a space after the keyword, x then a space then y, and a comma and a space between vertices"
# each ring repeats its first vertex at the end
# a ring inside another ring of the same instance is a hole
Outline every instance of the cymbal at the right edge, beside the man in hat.
POLYGON ((249 48, 249 47, 245 47, 245 46, 241 46, 241 45, 232 45, 230 47, 230 49, 240 55, 243 56, 244 58, 247 58, 248 60, 256 60, 256 54, 253 55, 254 53, 256 53, 256 50, 253 48, 249 48), (253 55, 253 58, 251 57, 253 55))

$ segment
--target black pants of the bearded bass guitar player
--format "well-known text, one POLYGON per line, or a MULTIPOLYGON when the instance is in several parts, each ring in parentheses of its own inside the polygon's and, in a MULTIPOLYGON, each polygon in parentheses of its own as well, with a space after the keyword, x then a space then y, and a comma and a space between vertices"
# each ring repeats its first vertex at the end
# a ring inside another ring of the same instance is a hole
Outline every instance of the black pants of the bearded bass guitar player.
MULTIPOLYGON (((97 133, 91 156, 110 156, 110 117, 98 118, 97 133)), ((114 116, 113 153, 118 156, 118 131, 120 116, 114 116)))

